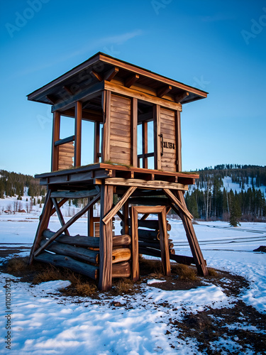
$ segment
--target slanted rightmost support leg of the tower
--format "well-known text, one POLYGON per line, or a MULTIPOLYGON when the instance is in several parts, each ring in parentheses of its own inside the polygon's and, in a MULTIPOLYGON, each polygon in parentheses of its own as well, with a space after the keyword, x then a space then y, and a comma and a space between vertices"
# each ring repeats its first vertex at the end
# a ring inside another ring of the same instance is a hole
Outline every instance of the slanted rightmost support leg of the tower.
MULTIPOLYGON (((177 192, 174 192, 174 194, 179 199, 179 202, 182 203, 183 207, 187 208, 186 202, 184 201, 184 196, 182 194, 182 191, 178 190, 177 192)), ((196 239, 196 234, 194 231, 192 221, 189 219, 189 217, 186 214, 183 213, 183 211, 181 209, 179 209, 179 216, 182 219, 182 222, 184 224, 184 229, 187 234, 187 240, 189 241, 189 246, 192 251, 194 262, 196 263, 196 269, 197 269, 199 275, 206 276, 209 274, 208 268, 206 267, 204 257, 201 253, 201 249, 199 247, 199 242, 196 239)))

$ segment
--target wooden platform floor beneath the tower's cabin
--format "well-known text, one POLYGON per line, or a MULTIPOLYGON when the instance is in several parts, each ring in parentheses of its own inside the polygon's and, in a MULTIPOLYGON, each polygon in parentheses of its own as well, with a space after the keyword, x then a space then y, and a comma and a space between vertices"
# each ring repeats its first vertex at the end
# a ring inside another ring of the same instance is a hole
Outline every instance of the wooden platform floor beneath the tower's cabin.
POLYGON ((137 186, 140 188, 172 190, 188 190, 188 185, 193 185, 197 174, 171 173, 161 170, 126 167, 106 163, 96 163, 80 168, 52 171, 35 175, 40 179, 40 185, 60 190, 84 190, 89 185, 119 185, 137 186))

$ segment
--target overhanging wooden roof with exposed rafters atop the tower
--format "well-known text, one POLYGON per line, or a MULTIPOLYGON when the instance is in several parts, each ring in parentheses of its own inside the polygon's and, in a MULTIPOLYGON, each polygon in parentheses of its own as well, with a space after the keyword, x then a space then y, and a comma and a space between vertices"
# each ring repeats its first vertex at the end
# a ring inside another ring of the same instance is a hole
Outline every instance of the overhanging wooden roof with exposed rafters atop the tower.
POLYGON ((150 94, 154 96, 181 104, 204 99, 208 94, 195 87, 99 52, 69 72, 28 94, 28 100, 57 104, 65 99, 66 94, 74 95, 95 84, 111 80, 116 80, 118 84, 126 87, 135 84, 135 89, 143 92, 145 89, 150 89, 150 94))

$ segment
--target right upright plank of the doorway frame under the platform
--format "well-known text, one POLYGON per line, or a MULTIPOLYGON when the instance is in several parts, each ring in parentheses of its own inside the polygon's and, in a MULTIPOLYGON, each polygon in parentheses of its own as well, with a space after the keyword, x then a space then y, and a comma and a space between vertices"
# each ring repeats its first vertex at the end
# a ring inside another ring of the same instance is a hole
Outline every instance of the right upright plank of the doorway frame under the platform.
POLYGON ((162 212, 158 213, 159 229, 160 229, 160 250, 162 259, 162 270, 167 276, 171 275, 169 244, 167 238, 167 223, 166 223, 166 207, 162 212))

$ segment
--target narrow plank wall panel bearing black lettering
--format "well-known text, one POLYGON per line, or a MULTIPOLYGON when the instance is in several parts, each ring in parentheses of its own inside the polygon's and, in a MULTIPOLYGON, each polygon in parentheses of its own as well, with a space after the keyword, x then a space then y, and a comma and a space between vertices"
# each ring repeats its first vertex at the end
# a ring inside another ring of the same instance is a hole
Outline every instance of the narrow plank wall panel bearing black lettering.
POLYGON ((161 157, 161 168, 164 171, 177 171, 177 129, 175 112, 160 108, 160 132, 163 135, 164 147, 161 157))

